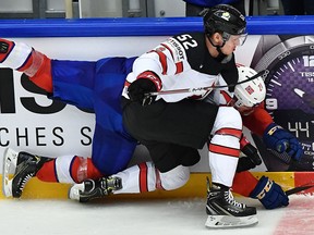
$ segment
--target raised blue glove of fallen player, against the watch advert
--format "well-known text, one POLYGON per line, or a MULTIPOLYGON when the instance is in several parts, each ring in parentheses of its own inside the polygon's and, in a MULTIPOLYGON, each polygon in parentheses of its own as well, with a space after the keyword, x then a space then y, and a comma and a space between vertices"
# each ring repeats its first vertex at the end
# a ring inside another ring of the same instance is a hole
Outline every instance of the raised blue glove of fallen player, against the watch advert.
POLYGON ((302 146, 299 140, 276 123, 271 123, 264 132, 263 140, 267 148, 279 153, 287 152, 292 159, 300 161, 302 157, 302 146))

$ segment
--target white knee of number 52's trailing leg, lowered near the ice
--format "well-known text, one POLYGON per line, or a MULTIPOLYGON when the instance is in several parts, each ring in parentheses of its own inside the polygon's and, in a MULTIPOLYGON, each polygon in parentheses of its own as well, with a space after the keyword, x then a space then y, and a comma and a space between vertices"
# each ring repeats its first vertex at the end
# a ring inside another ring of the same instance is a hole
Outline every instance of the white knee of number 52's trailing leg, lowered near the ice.
POLYGON ((182 187, 190 178, 188 166, 179 165, 168 172, 160 173, 161 187, 165 190, 173 190, 182 187))

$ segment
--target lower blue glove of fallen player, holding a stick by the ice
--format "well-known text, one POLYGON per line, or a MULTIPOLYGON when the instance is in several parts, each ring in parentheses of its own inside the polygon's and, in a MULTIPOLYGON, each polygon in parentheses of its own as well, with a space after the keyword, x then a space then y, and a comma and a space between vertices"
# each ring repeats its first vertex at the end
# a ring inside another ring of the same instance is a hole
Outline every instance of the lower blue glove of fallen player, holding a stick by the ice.
POLYGON ((258 199, 266 209, 287 207, 289 205, 289 198, 282 188, 266 176, 261 177, 250 197, 258 199))

